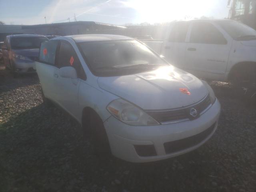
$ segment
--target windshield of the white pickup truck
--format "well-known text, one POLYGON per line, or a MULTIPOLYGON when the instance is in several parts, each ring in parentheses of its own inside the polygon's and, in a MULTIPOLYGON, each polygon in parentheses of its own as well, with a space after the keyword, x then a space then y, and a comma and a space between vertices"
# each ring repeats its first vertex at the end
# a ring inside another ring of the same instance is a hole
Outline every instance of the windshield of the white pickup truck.
POLYGON ((218 21, 218 24, 235 40, 251 40, 256 38, 256 30, 235 21, 218 21))

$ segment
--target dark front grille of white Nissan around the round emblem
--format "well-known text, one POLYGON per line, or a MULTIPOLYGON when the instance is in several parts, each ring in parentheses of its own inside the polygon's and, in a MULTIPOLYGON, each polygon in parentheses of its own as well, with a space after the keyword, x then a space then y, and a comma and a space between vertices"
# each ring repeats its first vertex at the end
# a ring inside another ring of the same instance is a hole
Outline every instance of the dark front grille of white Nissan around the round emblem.
POLYGON ((152 110, 146 110, 146 113, 152 116, 156 121, 158 122, 172 122, 176 120, 182 120, 182 119, 196 119, 200 116, 200 113, 203 112, 209 105, 210 102, 210 96, 209 94, 200 102, 197 104, 194 104, 192 106, 188 106, 181 109, 176 110, 164 110, 164 111, 152 111, 152 110), (190 115, 190 109, 194 108, 196 109, 198 115, 193 117, 190 115))

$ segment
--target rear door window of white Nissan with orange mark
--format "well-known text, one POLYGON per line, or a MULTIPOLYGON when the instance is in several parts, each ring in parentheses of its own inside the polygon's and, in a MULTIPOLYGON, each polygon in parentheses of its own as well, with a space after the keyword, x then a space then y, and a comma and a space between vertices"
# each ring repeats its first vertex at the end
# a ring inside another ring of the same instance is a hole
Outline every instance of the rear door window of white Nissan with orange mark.
POLYGON ((42 42, 39 53, 39 61, 42 63, 54 65, 58 43, 58 40, 42 42))

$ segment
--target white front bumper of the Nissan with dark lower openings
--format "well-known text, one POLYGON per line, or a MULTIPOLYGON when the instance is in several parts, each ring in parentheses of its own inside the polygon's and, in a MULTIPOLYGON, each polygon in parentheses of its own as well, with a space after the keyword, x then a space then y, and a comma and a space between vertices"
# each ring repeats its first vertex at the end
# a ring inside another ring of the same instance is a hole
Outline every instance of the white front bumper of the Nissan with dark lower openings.
POLYGON ((130 126, 111 116, 104 126, 114 156, 129 162, 152 162, 190 152, 204 144, 217 129, 219 116, 220 103, 216 99, 195 120, 130 126))

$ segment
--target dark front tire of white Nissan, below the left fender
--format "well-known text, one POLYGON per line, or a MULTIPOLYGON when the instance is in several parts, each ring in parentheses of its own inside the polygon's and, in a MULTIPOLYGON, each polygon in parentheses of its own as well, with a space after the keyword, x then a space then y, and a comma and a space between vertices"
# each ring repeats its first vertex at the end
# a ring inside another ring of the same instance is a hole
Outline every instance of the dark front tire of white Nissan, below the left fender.
POLYGON ((111 154, 110 145, 108 142, 108 136, 104 128, 104 124, 94 111, 86 118, 85 130, 89 134, 89 137, 92 140, 94 151, 100 157, 105 157, 111 154))

